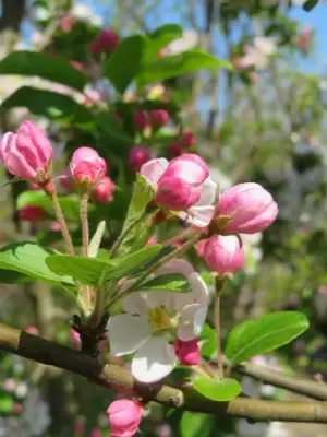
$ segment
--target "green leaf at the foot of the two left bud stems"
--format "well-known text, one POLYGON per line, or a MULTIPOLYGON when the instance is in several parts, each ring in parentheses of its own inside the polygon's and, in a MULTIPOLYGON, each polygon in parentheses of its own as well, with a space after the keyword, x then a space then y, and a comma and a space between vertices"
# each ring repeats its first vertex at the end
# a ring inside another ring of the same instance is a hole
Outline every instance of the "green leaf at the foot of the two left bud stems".
POLYGON ((117 261, 105 261, 69 255, 52 255, 46 259, 49 269, 59 275, 70 275, 82 284, 98 285, 102 273, 116 269, 117 261))

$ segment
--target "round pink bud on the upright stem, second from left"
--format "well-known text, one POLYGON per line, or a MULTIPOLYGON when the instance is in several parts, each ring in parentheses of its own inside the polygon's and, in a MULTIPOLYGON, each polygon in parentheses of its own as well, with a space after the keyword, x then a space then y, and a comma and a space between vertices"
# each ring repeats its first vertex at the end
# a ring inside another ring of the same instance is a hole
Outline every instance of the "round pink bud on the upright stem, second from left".
POLYGON ((94 149, 80 147, 73 154, 70 168, 76 184, 94 187, 105 176, 107 164, 94 149))

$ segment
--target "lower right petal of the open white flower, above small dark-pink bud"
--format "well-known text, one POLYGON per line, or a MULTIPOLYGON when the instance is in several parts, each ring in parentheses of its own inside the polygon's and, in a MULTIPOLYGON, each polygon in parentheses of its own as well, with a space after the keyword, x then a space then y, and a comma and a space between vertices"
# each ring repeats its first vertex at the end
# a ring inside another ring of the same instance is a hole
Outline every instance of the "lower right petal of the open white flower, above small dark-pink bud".
POLYGON ((207 317, 207 306, 186 306, 181 312, 181 324, 178 329, 178 338, 182 341, 196 339, 203 329, 207 317))

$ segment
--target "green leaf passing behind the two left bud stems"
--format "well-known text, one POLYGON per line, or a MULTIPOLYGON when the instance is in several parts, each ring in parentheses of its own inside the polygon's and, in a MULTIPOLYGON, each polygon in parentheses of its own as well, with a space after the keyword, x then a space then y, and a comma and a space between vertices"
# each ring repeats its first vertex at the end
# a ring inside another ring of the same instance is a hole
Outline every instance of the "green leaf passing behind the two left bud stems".
MULTIPOLYGON (((73 197, 59 197, 59 202, 66 218, 80 218, 80 200, 73 197)), ((16 208, 20 210, 23 206, 36 205, 43 208, 48 214, 55 215, 53 204, 49 196, 44 191, 24 191, 16 201, 16 208)), ((93 211, 94 205, 88 205, 88 211, 93 211)))

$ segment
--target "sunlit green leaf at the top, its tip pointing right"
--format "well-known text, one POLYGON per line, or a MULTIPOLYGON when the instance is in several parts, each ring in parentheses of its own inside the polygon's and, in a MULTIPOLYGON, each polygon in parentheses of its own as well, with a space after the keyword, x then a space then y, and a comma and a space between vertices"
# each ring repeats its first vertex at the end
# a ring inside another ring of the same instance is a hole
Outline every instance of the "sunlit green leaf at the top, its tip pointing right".
POLYGON ((166 56, 146 66, 138 75, 138 83, 144 86, 148 83, 195 73, 198 70, 218 68, 231 69, 232 66, 213 55, 199 50, 190 50, 180 55, 166 56))

